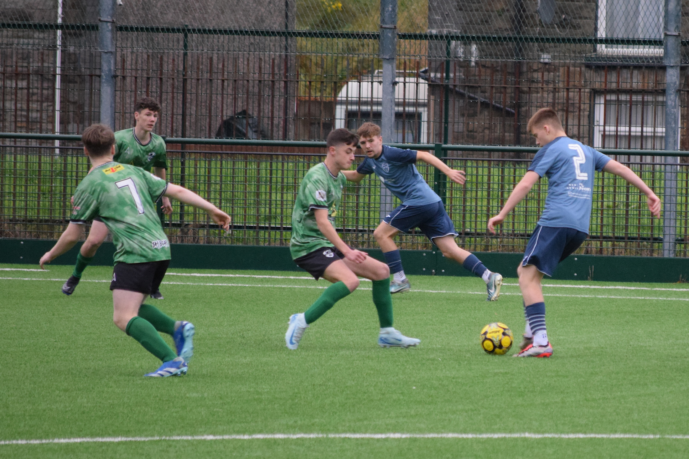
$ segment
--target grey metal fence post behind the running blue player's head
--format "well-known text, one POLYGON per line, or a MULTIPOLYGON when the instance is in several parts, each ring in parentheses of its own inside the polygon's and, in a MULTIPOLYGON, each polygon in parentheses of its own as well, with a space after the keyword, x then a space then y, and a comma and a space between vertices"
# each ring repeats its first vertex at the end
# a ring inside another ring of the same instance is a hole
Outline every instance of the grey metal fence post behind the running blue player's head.
MULTIPOLYGON (((380 131, 383 141, 394 143, 395 137, 395 58, 397 57, 397 0, 380 0, 380 59, 383 61, 383 83, 380 131)), ((380 219, 392 212, 392 193, 380 184, 380 219)))

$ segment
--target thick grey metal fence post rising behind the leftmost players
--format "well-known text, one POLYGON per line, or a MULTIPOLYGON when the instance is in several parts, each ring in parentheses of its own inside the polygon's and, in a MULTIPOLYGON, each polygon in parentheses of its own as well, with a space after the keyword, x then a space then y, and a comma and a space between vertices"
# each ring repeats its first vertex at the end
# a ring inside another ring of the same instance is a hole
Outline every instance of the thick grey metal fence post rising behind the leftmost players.
POLYGON ((101 49, 101 123, 115 128, 115 0, 99 0, 101 49))

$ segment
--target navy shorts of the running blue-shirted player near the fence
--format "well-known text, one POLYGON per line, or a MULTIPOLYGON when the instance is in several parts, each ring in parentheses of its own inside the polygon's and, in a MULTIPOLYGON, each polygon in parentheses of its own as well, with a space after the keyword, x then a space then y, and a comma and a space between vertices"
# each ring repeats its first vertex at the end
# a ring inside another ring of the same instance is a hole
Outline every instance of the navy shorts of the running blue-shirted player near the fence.
POLYGON ((428 205, 399 205, 383 221, 403 233, 418 227, 431 241, 449 234, 457 236, 455 224, 445 212, 442 201, 428 205))

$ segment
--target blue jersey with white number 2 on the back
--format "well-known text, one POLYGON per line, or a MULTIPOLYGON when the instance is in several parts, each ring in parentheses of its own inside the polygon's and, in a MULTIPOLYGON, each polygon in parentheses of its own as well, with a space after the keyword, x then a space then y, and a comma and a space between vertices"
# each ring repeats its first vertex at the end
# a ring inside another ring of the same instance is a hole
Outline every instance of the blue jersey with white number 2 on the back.
POLYGON ((548 177, 546 207, 538 224, 588 234, 593 174, 603 170, 608 161, 608 156, 569 137, 557 137, 538 150, 528 168, 548 177))

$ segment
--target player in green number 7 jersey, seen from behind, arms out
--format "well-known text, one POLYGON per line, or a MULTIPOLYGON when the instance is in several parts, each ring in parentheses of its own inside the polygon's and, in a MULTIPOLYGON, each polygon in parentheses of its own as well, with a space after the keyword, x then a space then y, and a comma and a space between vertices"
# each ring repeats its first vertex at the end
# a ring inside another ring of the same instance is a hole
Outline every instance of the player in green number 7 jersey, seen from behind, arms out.
POLYGON ((194 350, 194 325, 174 320, 156 307, 143 304, 163 281, 170 260, 169 242, 154 203, 160 196, 176 198, 205 210, 225 230, 230 217, 184 187, 166 183, 140 167, 114 162, 115 137, 107 126, 90 126, 84 131, 82 141, 92 169, 76 187, 70 224, 39 264, 43 268, 45 263, 74 247, 84 223, 101 216, 116 245, 110 283, 115 325, 163 362, 145 376, 186 374, 187 360, 194 350), (176 351, 158 332, 172 335, 176 351))

